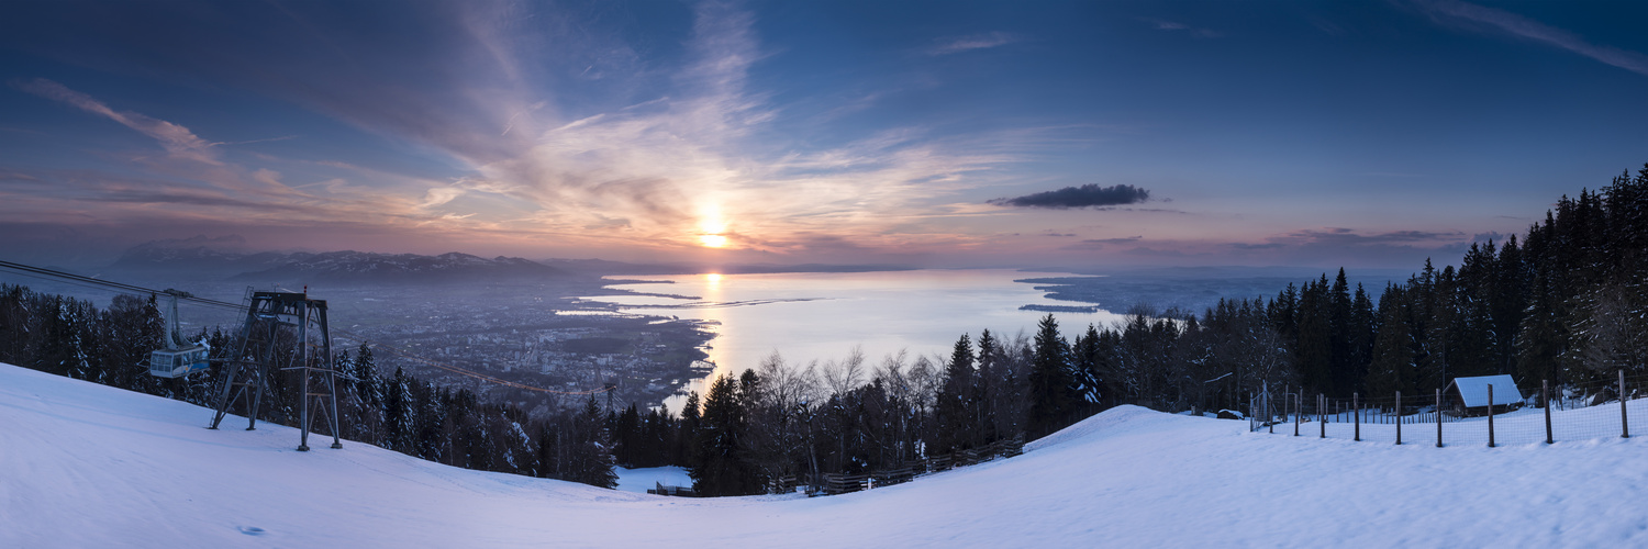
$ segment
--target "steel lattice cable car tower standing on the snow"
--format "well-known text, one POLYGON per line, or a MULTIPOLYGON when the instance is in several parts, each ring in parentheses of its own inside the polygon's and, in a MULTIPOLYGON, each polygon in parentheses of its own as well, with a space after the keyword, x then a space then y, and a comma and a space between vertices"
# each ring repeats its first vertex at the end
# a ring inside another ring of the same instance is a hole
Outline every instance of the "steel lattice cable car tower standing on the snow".
POLYGON ((218 429, 236 402, 246 402, 246 430, 257 429, 257 409, 267 392, 267 378, 277 371, 300 371, 303 406, 298 412, 298 452, 308 452, 310 412, 315 407, 320 407, 331 427, 331 447, 343 448, 338 439, 338 382, 331 363, 326 300, 311 300, 308 292, 254 292, 239 348, 222 363, 227 369, 218 391, 218 414, 208 429, 218 429), (311 348, 320 351, 318 358, 311 359, 311 348), (285 354, 293 366, 277 368, 282 350, 288 350, 285 354), (323 392, 313 392, 311 382, 323 392))

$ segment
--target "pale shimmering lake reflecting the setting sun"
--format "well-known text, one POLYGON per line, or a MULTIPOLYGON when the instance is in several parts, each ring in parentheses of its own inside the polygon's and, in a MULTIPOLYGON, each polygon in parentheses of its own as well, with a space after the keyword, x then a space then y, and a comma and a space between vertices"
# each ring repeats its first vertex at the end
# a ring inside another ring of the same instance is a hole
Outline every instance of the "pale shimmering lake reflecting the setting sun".
MULTIPOLYGON (((628 313, 714 321, 715 340, 704 350, 715 364, 714 378, 756 368, 773 351, 798 366, 840 361, 859 346, 868 364, 878 364, 900 350, 910 359, 949 356, 956 338, 967 333, 977 340, 986 328, 1002 336, 1020 330, 1028 335, 1046 313, 1020 310, 1022 305, 1084 305, 1055 302, 1030 284, 1014 282, 1043 275, 1014 269, 666 275, 616 287, 692 298, 588 300, 620 305, 628 313)), ((1066 338, 1089 323, 1103 328, 1121 320, 1103 310, 1053 317, 1066 338)), ((704 394, 705 386, 707 379, 694 379, 686 389, 704 394)), ((679 396, 667 401, 674 411, 682 402, 679 396)))

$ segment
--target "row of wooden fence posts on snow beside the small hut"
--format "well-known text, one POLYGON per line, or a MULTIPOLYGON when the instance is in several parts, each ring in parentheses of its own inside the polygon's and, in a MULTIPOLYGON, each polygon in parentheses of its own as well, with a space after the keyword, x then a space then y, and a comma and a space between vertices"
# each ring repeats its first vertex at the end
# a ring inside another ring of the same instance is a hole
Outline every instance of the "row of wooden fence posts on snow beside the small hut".
POLYGON ((1328 399, 1280 391, 1261 394, 1249 409, 1252 430, 1318 439, 1350 439, 1388 443, 1511 445, 1554 443, 1630 437, 1630 419, 1648 417, 1648 376, 1551 386, 1534 381, 1523 387, 1490 387, 1518 391, 1521 399, 1505 392, 1488 402, 1498 406, 1467 407, 1460 392, 1450 387, 1427 394, 1391 394, 1369 399, 1328 399))

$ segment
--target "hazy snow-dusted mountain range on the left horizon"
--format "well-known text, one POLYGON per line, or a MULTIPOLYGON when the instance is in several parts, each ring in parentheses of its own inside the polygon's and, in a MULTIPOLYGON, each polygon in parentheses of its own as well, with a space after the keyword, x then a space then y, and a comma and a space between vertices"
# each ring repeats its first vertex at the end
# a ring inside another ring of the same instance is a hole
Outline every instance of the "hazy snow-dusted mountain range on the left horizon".
POLYGON ((470 254, 374 254, 374 252, 259 252, 237 254, 204 246, 176 247, 152 242, 129 249, 110 270, 138 275, 186 274, 196 279, 247 282, 524 282, 565 280, 578 275, 521 257, 478 257, 470 254))

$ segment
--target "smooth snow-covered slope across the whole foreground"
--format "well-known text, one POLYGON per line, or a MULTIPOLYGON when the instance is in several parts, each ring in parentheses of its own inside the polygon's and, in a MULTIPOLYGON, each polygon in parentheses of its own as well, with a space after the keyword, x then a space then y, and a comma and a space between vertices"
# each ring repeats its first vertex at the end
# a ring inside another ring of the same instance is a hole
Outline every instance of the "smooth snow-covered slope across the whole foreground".
POLYGON ((684 500, 209 415, 0 364, 0 547, 1648 546, 1638 439, 1394 447, 1121 407, 908 485, 684 500))

